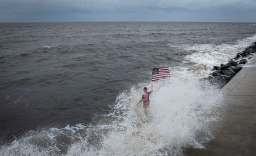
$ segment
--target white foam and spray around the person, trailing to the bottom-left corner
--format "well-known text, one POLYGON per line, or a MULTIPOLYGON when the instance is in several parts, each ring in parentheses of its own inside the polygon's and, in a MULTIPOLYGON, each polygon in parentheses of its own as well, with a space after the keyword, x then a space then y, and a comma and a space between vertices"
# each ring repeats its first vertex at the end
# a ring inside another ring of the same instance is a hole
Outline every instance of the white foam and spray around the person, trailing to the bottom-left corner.
POLYGON ((154 84, 148 118, 136 103, 150 83, 137 84, 90 125, 31 130, 2 146, 0 155, 183 155, 185 148, 204 148, 222 120, 225 98, 184 71, 154 84))

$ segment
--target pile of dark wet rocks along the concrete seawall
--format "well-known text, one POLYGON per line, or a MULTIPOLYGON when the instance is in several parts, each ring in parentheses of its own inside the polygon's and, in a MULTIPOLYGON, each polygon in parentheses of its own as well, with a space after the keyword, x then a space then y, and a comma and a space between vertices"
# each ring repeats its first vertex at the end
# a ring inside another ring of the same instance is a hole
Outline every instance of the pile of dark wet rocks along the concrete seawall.
POLYGON ((222 88, 224 87, 246 64, 248 59, 251 59, 256 53, 256 42, 253 45, 246 48, 243 52, 239 52, 236 58, 230 59, 226 64, 220 66, 214 66, 211 76, 202 80, 209 81, 210 84, 222 88))

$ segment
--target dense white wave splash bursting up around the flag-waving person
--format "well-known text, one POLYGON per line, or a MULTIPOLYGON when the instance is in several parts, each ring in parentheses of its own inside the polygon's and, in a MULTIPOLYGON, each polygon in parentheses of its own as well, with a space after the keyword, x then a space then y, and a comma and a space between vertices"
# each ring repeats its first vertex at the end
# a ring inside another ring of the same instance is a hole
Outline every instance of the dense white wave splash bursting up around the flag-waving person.
POLYGON ((96 146, 85 139, 73 144, 68 155, 183 155, 183 148, 204 148, 222 119, 224 98, 221 91, 203 86, 184 75, 156 84, 148 118, 142 105, 136 107, 141 90, 132 88, 132 98, 118 97, 125 101, 118 108, 129 106, 128 114, 119 116, 124 121, 111 125, 113 130, 101 136, 96 146))

